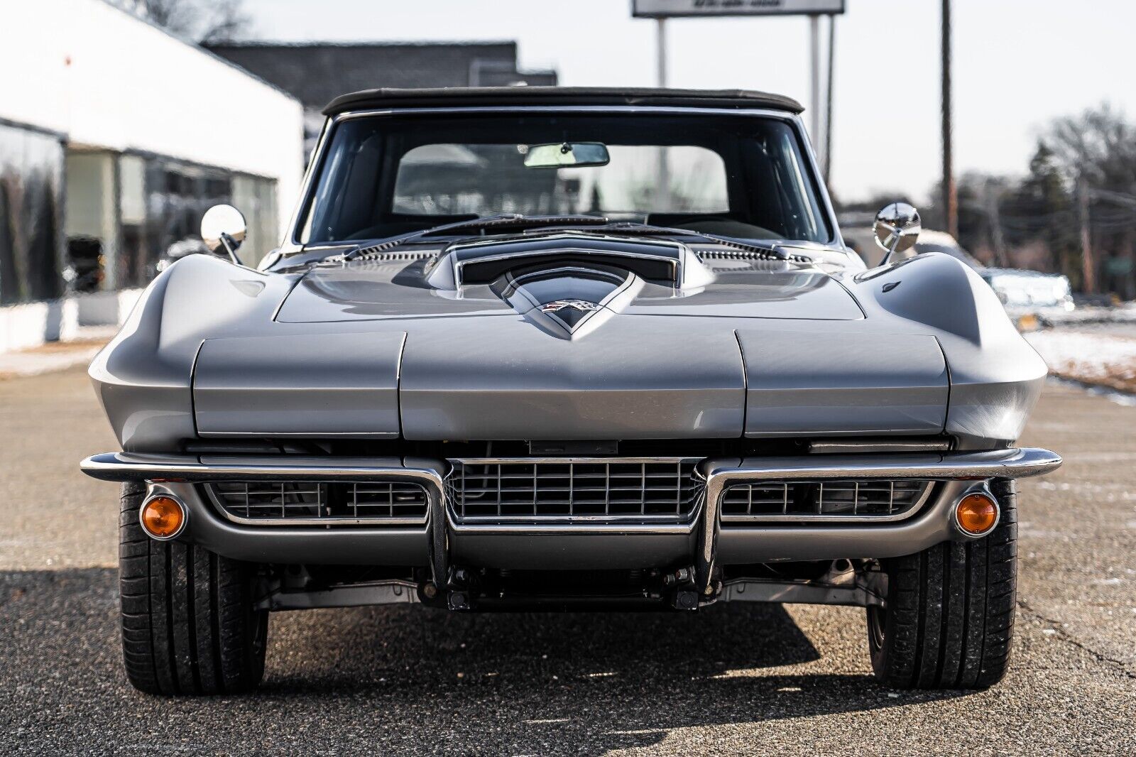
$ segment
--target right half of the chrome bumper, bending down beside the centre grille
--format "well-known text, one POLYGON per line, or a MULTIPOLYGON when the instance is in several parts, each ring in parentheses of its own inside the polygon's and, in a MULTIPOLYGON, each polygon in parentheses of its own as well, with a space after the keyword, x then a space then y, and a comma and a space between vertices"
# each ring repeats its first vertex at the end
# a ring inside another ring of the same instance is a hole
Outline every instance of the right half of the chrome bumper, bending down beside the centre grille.
MULTIPOLYGON (((708 459, 705 517, 695 556, 696 589, 713 593, 715 555, 721 531, 721 498, 726 486, 738 481, 825 479, 928 479, 933 481, 984 481, 1024 479, 1061 466, 1061 456, 1047 449, 1021 448, 951 455, 825 455, 817 458, 780 457, 708 459)), ((758 527, 760 530, 760 527, 758 527)), ((735 529, 732 529, 735 531, 735 529)), ((736 529, 744 532, 744 527, 736 529)))

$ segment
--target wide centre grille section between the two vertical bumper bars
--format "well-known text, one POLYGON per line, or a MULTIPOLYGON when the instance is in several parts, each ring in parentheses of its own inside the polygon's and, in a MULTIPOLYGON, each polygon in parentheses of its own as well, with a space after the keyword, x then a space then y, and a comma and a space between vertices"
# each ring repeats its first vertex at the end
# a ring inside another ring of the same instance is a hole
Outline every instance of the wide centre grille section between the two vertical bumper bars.
POLYGON ((459 522, 690 521, 700 458, 450 460, 446 499, 459 522))

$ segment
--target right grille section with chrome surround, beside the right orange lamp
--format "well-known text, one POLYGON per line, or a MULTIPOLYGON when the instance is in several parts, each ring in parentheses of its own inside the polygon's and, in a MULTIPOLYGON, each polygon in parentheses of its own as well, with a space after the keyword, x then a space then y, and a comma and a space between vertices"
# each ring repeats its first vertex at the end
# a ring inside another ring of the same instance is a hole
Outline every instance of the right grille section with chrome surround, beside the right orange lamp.
POLYGON ((761 481, 733 484, 722 523, 899 521, 927 499, 930 481, 761 481))

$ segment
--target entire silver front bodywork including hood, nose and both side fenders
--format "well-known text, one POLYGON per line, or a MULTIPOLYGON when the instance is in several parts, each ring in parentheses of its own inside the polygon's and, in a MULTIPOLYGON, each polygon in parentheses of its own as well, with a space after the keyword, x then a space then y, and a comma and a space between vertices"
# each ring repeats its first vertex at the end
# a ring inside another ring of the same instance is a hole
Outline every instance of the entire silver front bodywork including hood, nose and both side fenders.
POLYGON ((448 288, 427 263, 262 273, 211 256, 175 263, 91 366, 124 449, 193 438, 1005 441, 1045 375, 993 291, 942 255, 844 280, 743 260, 733 275, 779 282, 747 284, 749 301, 726 276, 686 276, 670 288, 680 294, 618 275, 524 274, 503 289, 474 276, 448 288), (321 321, 282 310, 301 301, 290 292, 314 297, 368 276, 404 307, 339 291, 319 298, 321 321), (816 317, 821 306, 849 313, 849 302, 867 315, 816 317), (704 317, 715 308, 746 315, 704 317), (782 308, 809 317, 760 315, 782 308))

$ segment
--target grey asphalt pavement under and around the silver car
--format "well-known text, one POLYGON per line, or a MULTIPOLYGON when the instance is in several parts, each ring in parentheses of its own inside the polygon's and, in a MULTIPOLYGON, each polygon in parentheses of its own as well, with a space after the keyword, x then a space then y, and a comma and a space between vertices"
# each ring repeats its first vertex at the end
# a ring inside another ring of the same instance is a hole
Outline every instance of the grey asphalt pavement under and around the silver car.
POLYGON ((1049 386, 1022 440, 1013 668, 982 693, 871 679, 862 610, 281 613, 253 694, 126 683, 116 449, 82 371, 0 381, 0 751, 233 755, 1136 754, 1136 407, 1049 386))

